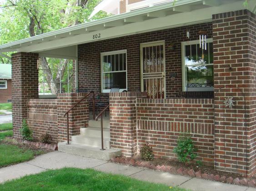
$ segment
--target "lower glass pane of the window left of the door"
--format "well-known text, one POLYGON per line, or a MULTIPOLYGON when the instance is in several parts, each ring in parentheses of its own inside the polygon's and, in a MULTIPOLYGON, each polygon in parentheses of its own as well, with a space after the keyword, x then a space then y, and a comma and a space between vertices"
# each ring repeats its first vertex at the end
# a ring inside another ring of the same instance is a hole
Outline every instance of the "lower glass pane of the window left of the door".
POLYGON ((126 72, 104 73, 102 77, 103 90, 113 87, 126 89, 126 72))

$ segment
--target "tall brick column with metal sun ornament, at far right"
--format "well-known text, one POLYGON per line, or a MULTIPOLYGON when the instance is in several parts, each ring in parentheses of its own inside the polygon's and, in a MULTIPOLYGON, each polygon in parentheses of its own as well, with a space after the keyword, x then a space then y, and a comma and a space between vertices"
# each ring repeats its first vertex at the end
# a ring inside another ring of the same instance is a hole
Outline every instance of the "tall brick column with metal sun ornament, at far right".
POLYGON ((256 172, 256 17, 239 10, 212 19, 216 169, 250 177, 256 172))

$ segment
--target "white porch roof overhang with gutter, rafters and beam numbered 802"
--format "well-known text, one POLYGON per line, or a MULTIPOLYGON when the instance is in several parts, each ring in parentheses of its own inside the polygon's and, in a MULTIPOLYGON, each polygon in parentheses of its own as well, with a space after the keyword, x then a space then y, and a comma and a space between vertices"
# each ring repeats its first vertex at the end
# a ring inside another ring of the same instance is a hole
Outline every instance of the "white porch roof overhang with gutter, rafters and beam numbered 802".
MULTIPOLYGON (((173 2, 165 3, 4 44, 0 46, 0 53, 33 52, 47 57, 75 59, 77 44, 210 22, 212 14, 245 9, 243 2, 178 0, 174 5, 173 2)), ((255 13, 256 0, 248 3, 248 9, 255 13)))

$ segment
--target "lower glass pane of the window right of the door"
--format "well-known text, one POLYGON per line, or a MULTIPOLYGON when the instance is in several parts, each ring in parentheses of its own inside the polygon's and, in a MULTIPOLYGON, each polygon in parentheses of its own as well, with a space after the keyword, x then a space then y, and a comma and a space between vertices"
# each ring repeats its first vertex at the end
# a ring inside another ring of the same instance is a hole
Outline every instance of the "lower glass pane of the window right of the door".
POLYGON ((186 67, 187 84, 213 84, 213 65, 186 67))

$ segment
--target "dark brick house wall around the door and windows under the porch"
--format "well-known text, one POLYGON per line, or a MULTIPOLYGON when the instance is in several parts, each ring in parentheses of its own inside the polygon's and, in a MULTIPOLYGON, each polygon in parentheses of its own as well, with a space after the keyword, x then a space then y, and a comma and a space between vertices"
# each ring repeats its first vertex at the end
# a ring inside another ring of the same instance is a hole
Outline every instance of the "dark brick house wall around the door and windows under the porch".
POLYGON ((100 92, 100 53, 126 49, 128 91, 141 91, 140 43, 165 40, 166 98, 176 97, 182 91, 181 42, 186 41, 187 30, 189 40, 198 39, 200 30, 206 30, 208 38, 212 36, 212 24, 205 23, 78 45, 78 85, 96 94, 100 92), (174 51, 168 50, 171 43, 175 45, 174 51), (178 74, 174 81, 170 77, 172 72, 178 74))

